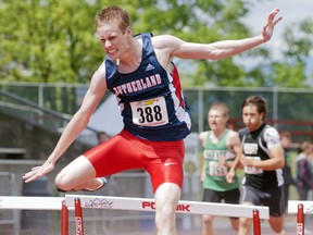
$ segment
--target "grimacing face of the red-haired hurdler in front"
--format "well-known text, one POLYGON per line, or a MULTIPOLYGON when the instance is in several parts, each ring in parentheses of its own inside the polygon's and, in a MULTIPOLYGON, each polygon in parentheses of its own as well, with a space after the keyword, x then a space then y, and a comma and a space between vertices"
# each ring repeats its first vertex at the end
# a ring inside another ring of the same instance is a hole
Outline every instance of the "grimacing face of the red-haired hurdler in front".
POLYGON ((125 33, 121 30, 117 23, 103 24, 97 28, 97 35, 101 41, 107 55, 116 60, 127 49, 127 40, 132 36, 130 27, 125 33))

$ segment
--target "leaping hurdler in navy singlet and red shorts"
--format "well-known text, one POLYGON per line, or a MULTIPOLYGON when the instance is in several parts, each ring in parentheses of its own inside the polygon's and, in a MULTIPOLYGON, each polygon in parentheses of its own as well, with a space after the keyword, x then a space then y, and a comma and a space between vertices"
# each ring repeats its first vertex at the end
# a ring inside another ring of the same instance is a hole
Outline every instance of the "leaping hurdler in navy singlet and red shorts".
MULTIPOLYGON (((143 169, 155 198, 158 234, 176 234, 175 211, 183 186, 184 138, 190 133, 190 114, 173 57, 218 60, 268 41, 278 9, 268 14, 262 34, 214 44, 187 42, 177 37, 141 34, 134 37, 130 20, 120 7, 108 7, 96 17, 96 33, 105 50, 82 107, 68 122, 54 150, 40 166, 24 175, 27 182, 46 175, 86 127, 107 90, 116 96, 124 129, 75 159, 57 176, 61 190, 92 190, 102 176, 143 169)), ((105 116, 104 116, 105 119, 105 116)))

